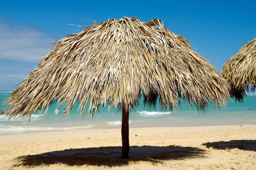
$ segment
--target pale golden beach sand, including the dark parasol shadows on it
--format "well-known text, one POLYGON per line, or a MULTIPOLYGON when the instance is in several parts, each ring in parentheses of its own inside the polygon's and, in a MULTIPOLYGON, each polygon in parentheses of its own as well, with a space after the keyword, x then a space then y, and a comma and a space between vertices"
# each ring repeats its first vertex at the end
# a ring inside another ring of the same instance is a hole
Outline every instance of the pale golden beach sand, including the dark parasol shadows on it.
POLYGON ((256 170, 256 125, 130 128, 0 136, 0 170, 256 170))

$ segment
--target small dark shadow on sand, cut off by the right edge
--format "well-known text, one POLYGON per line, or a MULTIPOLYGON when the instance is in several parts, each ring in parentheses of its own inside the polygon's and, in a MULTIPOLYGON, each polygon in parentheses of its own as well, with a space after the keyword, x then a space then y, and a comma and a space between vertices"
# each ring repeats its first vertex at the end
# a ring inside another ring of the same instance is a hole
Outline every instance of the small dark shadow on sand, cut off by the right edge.
POLYGON ((219 141, 219 142, 207 142, 204 143, 207 148, 215 149, 234 149, 256 151, 256 140, 230 140, 230 141, 219 141))

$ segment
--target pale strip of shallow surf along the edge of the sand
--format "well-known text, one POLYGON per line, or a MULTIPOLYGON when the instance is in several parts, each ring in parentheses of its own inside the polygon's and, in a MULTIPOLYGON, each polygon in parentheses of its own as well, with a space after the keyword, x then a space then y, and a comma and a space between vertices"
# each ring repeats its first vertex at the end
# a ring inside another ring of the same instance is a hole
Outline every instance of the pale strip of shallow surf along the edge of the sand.
MULTIPOLYGON (((256 126, 256 119, 250 119, 247 121, 232 122, 232 121, 224 121, 223 119, 218 121, 218 119, 181 119, 180 121, 174 122, 174 124, 167 124, 166 121, 161 121, 159 119, 152 119, 151 121, 146 122, 136 122, 130 123, 130 129, 136 128, 188 128, 188 127, 228 127, 228 126, 256 126), (214 120, 214 121, 213 121, 214 120), (158 122, 153 122, 158 121, 158 122), (218 122, 217 122, 218 121, 218 122), (222 122, 223 121, 223 122, 222 122), (150 124, 150 125, 148 125, 150 124)), ((237 119, 234 119, 237 120, 237 119)), ((169 120, 168 120, 169 121, 169 120)), ((27 125, 30 127, 30 125, 27 125)), ((16 134, 34 134, 34 133, 51 133, 51 132, 68 132, 68 131, 77 131, 77 130, 96 130, 96 129, 121 129, 121 124, 116 125, 101 125, 101 124, 91 124, 86 126, 74 126, 74 127, 48 127, 49 129, 44 129, 45 127, 36 127, 36 129, 40 130, 20 130, 20 131, 0 131, 0 136, 4 135, 16 135, 16 134), (42 129, 40 129, 42 128, 42 129)))

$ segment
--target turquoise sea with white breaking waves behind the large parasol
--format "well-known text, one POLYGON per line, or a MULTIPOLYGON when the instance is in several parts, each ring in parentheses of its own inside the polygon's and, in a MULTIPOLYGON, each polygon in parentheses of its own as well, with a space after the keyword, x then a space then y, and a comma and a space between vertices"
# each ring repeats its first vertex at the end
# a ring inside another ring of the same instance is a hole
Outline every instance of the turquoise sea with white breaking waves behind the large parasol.
MULTIPOLYGON (((4 102, 12 91, 0 91, 0 110, 6 112, 4 102)), ((183 102, 173 111, 164 110, 160 103, 156 107, 144 106, 139 101, 139 106, 130 112, 130 127, 158 127, 158 126, 207 126, 207 125, 244 125, 256 124, 256 94, 248 93, 244 102, 228 100, 226 106, 218 107, 209 105, 206 112, 198 111, 196 106, 189 106, 183 102), (250 109, 250 110, 249 110, 250 109)), ((32 131, 58 131, 76 128, 120 128, 121 111, 119 108, 101 107, 100 114, 93 118, 85 108, 84 116, 79 113, 76 103, 68 116, 62 112, 66 107, 54 103, 48 113, 35 112, 29 119, 20 117, 8 119, 0 115, 0 135, 8 133, 27 133, 32 131), (59 115, 54 115, 55 108, 60 110, 59 115)))

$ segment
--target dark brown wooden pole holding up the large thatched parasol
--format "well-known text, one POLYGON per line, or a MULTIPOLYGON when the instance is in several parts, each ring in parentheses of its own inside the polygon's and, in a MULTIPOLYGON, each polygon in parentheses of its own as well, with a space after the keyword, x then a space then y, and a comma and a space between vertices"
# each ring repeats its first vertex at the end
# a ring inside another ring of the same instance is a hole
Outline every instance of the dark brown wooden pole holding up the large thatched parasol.
POLYGON ((122 107, 122 159, 128 159, 129 156, 129 110, 122 107))

